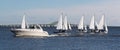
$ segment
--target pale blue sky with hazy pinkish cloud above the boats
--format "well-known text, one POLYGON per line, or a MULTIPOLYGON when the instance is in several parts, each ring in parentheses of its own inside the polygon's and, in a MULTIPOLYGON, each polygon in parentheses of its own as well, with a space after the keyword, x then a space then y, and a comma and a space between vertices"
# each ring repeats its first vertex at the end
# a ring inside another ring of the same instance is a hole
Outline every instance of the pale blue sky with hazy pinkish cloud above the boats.
POLYGON ((30 24, 49 24, 63 12, 72 24, 83 15, 86 25, 93 15, 99 22, 104 14, 107 25, 120 26, 119 5, 120 0, 0 0, 0 24, 20 24, 24 14, 30 24))

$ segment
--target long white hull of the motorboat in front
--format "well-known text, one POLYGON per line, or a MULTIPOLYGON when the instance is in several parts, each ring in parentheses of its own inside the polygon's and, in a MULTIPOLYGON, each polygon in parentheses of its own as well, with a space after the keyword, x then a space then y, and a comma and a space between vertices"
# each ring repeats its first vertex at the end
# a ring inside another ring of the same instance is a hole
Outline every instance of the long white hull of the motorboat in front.
POLYGON ((16 36, 49 36, 46 31, 41 31, 39 29, 12 29, 16 36))

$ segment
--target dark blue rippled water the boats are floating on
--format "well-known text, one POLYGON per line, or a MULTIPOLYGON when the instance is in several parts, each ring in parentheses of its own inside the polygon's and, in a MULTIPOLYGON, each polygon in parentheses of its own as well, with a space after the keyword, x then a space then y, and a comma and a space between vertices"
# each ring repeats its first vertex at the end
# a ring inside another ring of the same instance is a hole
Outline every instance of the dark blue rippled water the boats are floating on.
MULTIPOLYGON (((0 50, 120 50, 120 27, 109 27, 105 36, 14 37, 9 27, 0 27, 0 50)), ((54 28, 45 27, 49 34, 54 28)), ((76 30, 69 31, 77 34, 76 30)))

